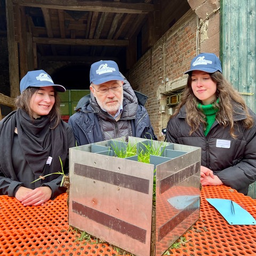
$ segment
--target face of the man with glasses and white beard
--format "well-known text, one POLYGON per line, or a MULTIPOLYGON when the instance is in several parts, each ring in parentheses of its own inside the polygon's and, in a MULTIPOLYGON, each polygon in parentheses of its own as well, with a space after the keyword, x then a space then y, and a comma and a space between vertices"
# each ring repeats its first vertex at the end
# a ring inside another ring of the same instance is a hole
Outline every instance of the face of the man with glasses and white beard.
POLYGON ((123 104, 122 85, 122 81, 113 80, 99 85, 92 83, 90 86, 90 90, 96 98, 100 108, 107 111, 111 116, 115 116, 118 109, 123 104), (110 88, 113 88, 113 90, 110 88))

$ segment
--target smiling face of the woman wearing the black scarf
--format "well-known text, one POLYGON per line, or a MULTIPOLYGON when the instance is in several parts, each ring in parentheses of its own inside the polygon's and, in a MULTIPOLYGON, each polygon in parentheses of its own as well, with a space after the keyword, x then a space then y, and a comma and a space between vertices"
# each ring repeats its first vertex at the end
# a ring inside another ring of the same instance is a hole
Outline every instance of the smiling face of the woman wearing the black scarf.
POLYGON ((39 87, 30 99, 30 108, 34 118, 48 115, 55 102, 53 86, 39 87))

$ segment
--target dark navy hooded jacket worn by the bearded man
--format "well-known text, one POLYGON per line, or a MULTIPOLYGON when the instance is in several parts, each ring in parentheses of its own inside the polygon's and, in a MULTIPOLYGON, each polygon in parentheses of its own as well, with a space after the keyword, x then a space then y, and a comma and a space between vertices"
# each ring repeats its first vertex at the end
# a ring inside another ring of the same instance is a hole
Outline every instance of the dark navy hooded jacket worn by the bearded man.
POLYGON ((82 102, 81 109, 70 116, 68 121, 73 128, 77 145, 105 140, 100 125, 105 127, 104 130, 111 134, 112 139, 123 137, 124 134, 127 134, 128 127, 131 127, 132 134, 130 135, 133 137, 157 140, 147 110, 143 106, 147 97, 133 91, 126 79, 123 85, 123 94, 123 112, 117 122, 114 117, 99 107, 92 94, 86 95, 78 102, 78 105, 82 102))

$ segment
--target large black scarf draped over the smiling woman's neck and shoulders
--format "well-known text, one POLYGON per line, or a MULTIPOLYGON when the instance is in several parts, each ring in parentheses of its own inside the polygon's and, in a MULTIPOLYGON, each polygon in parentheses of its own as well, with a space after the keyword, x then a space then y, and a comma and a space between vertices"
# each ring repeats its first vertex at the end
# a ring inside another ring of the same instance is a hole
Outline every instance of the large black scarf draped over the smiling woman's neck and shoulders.
POLYGON ((50 129, 48 116, 31 120, 24 110, 18 109, 6 116, 0 125, 0 168, 6 177, 17 180, 12 166, 12 161, 15 161, 12 159, 15 127, 21 150, 36 177, 46 174, 43 172, 49 156, 52 157, 49 173, 61 171, 59 156, 64 164, 68 152, 67 132, 63 123, 50 129))

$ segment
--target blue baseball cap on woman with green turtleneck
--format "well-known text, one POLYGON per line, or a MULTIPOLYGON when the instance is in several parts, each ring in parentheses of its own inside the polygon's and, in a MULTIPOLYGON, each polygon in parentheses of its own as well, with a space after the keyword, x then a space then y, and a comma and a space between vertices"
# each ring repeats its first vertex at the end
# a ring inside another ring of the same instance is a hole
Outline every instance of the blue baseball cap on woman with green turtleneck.
POLYGON ((193 70, 201 70, 207 73, 214 73, 220 71, 222 73, 220 59, 214 53, 200 53, 190 64, 190 69, 184 74, 188 74, 193 70))

